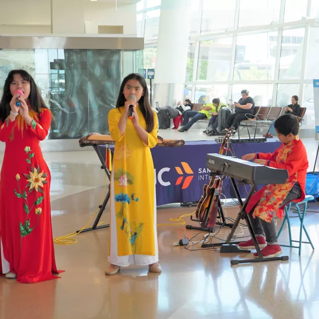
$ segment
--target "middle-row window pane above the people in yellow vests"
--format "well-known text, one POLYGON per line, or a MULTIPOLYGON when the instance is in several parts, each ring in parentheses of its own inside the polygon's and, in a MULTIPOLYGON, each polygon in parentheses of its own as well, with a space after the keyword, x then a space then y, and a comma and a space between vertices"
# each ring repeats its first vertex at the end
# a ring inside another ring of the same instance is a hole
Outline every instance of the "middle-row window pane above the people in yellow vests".
POLYGON ((233 38, 201 41, 197 67, 199 81, 229 80, 233 38))

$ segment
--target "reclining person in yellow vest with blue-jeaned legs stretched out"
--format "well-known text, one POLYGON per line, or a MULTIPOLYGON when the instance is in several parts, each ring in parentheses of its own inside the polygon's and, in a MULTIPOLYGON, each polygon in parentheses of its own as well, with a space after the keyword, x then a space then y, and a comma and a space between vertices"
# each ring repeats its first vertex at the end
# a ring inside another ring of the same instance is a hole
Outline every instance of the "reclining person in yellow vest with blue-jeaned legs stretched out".
POLYGON ((213 99, 212 103, 201 106, 200 111, 189 110, 184 114, 183 126, 178 132, 187 132, 194 123, 205 118, 217 117, 222 104, 219 99, 213 99), (189 118, 191 117, 190 121, 189 118))

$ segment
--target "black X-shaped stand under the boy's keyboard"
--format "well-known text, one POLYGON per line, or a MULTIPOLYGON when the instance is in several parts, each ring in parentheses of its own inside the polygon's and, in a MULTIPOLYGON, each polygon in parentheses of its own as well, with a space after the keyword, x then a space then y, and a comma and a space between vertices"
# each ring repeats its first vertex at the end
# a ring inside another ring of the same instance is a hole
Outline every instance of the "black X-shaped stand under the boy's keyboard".
POLYGON ((238 216, 236 218, 236 221, 234 223, 234 226, 232 227, 232 230, 230 232, 230 234, 228 235, 227 239, 226 239, 226 243, 213 243, 213 244, 202 244, 202 247, 217 247, 220 246, 220 252, 221 253, 250 253, 250 250, 246 250, 246 249, 239 249, 237 244, 239 244, 239 242, 241 241, 236 241, 236 242, 231 242, 231 239, 233 238, 233 235, 235 234, 236 228, 239 225, 240 219, 244 219, 246 221, 249 233, 251 238, 254 241, 254 245, 256 247, 256 251, 258 253, 259 258, 254 258, 254 259, 244 259, 244 260, 231 260, 230 263, 231 265, 238 265, 238 264, 247 264, 247 263, 260 263, 260 262, 269 262, 269 261, 275 261, 275 260, 282 260, 282 261, 287 261, 289 259, 288 256, 281 256, 281 257, 273 257, 273 258, 264 258, 261 250, 259 248, 259 245, 257 243, 257 239, 256 236, 254 234, 253 228, 251 226, 250 220, 248 218, 248 214, 246 213, 246 207, 248 204, 248 201, 250 199, 250 197, 252 196, 256 185, 253 185, 247 195, 247 198, 245 200, 245 203, 242 202, 240 193, 239 193, 239 189, 236 185, 236 182, 234 180, 234 178, 231 178, 231 182, 232 185, 234 187, 234 190, 236 192, 236 196, 239 200, 239 204, 241 206, 240 211, 238 213, 238 216))

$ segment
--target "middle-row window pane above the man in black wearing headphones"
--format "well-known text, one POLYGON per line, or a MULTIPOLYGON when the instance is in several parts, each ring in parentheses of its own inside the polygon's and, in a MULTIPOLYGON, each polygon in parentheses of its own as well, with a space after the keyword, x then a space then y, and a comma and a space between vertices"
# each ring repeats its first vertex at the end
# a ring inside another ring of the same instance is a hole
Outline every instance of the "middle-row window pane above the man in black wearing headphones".
POLYGON ((234 80, 273 80, 278 32, 237 37, 234 80))

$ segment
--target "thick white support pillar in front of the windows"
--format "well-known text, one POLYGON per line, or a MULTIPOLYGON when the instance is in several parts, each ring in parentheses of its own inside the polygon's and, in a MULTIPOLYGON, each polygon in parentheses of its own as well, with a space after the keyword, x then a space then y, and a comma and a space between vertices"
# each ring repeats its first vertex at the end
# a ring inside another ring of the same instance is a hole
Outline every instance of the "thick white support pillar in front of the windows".
POLYGON ((186 78, 191 1, 161 0, 153 106, 182 101, 186 78))

